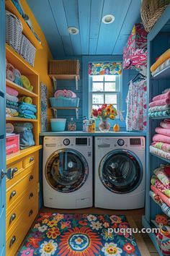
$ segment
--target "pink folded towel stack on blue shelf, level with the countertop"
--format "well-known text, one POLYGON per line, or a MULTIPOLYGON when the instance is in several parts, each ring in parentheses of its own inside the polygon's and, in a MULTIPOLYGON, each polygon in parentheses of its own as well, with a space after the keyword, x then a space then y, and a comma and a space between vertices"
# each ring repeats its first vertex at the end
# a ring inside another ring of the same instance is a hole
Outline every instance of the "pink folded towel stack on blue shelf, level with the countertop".
POLYGON ((170 159, 170 119, 161 121, 160 127, 155 129, 156 135, 153 135, 153 142, 150 146, 150 152, 170 159))

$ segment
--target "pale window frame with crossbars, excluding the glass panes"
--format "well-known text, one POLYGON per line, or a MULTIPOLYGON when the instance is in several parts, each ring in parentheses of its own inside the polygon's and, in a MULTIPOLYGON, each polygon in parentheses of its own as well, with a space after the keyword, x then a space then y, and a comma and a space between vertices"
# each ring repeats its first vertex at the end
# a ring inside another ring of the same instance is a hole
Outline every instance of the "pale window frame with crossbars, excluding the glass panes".
MULTIPOLYGON (((111 74, 110 74, 111 75, 111 74)), ((92 75, 89 76, 89 115, 91 114, 91 109, 92 106, 95 105, 92 103, 92 94, 104 94, 104 100, 105 100, 105 94, 116 94, 117 95, 117 111, 122 111, 122 74, 116 75, 116 90, 115 91, 93 91, 92 90, 92 85, 93 85, 93 80, 92 80, 92 75)), ((96 81, 96 82, 102 82, 102 83, 107 83, 107 82, 112 82, 112 81, 96 81)), ((99 104, 97 104, 99 105, 99 104)))

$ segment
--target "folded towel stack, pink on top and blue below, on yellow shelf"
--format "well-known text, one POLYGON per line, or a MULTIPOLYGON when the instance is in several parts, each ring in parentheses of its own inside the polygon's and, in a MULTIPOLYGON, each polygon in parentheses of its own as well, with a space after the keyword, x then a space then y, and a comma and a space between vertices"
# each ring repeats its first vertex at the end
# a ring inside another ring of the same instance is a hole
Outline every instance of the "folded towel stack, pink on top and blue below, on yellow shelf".
POLYGON ((18 92, 6 86, 6 117, 18 116, 18 92))

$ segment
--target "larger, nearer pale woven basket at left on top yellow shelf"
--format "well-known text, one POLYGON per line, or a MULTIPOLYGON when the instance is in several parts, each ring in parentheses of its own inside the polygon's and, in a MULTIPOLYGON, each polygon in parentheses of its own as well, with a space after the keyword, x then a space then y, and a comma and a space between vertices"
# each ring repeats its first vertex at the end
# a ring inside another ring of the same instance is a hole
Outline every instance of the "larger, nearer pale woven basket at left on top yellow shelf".
POLYGON ((19 53, 22 40, 22 22, 11 12, 6 11, 6 43, 19 53))

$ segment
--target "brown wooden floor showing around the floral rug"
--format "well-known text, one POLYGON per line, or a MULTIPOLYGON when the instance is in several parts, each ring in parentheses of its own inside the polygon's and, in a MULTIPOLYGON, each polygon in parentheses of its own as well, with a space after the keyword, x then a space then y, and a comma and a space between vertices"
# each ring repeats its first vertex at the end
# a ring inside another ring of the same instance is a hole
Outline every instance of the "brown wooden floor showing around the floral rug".
MULTIPOLYGON (((97 213, 97 214, 122 214, 128 218, 128 222, 131 227, 138 227, 138 229, 142 228, 142 216, 144 215, 144 209, 139 210, 106 210, 99 208, 86 208, 79 210, 59 210, 52 208, 42 208, 40 212, 53 212, 53 213, 97 213)), ((151 239, 148 234, 136 234, 135 235, 136 242, 140 249, 140 253, 142 256, 158 256, 155 247, 153 246, 151 239), (148 250, 147 250, 148 249, 148 250)))

